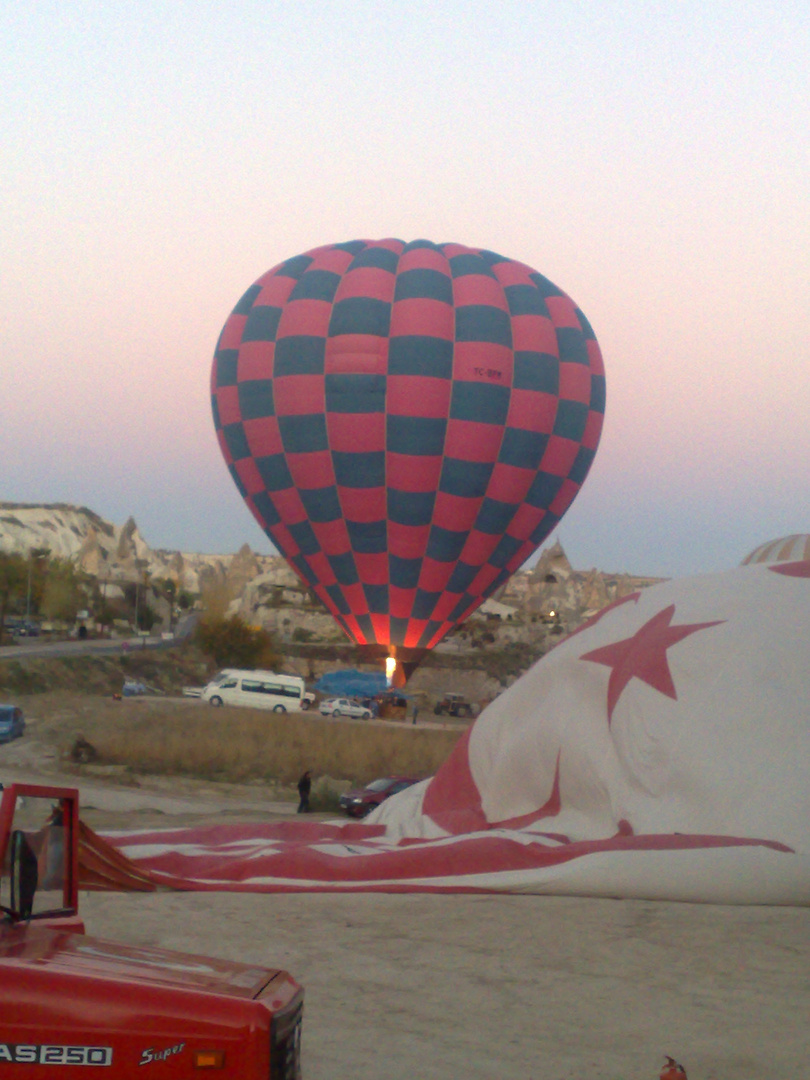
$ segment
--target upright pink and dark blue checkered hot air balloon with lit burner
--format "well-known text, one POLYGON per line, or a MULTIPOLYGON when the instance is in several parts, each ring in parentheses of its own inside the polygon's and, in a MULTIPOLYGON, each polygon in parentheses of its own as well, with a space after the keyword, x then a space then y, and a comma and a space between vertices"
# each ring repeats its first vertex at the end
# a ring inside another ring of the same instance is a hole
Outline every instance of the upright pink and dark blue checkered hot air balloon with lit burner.
POLYGON ((212 401, 271 542, 349 638, 410 671, 570 505, 605 377, 582 312, 530 267, 355 240, 247 289, 219 336, 212 401))

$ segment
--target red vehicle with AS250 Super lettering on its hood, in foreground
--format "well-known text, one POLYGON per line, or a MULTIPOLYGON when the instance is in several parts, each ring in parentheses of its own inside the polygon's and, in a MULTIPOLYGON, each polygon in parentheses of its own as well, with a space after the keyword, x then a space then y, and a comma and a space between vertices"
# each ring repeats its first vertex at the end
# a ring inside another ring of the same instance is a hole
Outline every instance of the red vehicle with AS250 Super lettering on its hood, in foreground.
POLYGON ((301 987, 285 971, 85 934, 79 836, 77 791, 3 792, 3 1077, 45 1080, 60 1065, 70 1080, 102 1066, 113 1080, 150 1065, 164 1080, 299 1080, 301 987))

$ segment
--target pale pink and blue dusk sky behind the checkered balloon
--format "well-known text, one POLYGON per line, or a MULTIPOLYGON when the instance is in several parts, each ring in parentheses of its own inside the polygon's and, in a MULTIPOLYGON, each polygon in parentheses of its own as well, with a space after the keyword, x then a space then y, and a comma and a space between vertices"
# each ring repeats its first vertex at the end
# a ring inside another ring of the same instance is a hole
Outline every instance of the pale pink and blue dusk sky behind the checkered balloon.
POLYGON ((575 567, 810 531, 806 2, 38 0, 0 41, 0 500, 269 552, 214 435, 219 329, 288 256, 426 237, 596 332, 575 567))

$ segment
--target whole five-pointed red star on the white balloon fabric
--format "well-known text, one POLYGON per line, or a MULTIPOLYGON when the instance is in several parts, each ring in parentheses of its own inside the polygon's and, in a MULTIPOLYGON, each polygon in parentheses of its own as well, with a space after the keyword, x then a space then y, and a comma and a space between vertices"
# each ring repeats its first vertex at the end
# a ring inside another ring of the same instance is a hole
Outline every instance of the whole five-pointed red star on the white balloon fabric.
POLYGON ((639 678, 653 690, 666 694, 677 701, 675 684, 672 680, 666 650, 677 642, 708 626, 718 626, 725 619, 715 622, 690 622, 680 626, 672 626, 675 605, 671 604, 659 611, 632 637, 625 637, 613 645, 604 645, 600 649, 585 652, 580 660, 591 660, 595 664, 605 664, 610 669, 608 680, 608 725, 613 716, 619 698, 624 687, 632 678, 639 678))

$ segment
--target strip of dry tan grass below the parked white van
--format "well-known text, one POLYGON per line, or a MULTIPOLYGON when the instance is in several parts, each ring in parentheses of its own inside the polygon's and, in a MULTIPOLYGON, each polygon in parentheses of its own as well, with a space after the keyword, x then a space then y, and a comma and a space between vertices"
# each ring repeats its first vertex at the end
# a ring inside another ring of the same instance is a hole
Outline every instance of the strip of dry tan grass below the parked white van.
POLYGON ((291 785, 303 769, 352 783, 387 773, 428 777, 465 729, 213 708, 194 699, 116 701, 57 690, 15 700, 30 735, 51 754, 69 762, 82 738, 97 754, 94 764, 120 767, 123 780, 146 773, 291 785))

